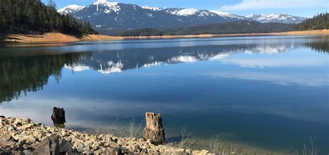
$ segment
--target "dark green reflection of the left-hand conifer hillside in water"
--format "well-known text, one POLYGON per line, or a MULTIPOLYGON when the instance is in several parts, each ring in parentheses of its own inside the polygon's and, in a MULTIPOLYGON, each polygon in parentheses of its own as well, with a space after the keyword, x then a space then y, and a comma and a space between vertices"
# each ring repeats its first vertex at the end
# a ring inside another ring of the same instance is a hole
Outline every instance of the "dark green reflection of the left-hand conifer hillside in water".
POLYGON ((60 79, 62 67, 90 58, 90 53, 47 56, 0 57, 0 103, 17 99, 22 92, 36 92, 49 76, 60 79))

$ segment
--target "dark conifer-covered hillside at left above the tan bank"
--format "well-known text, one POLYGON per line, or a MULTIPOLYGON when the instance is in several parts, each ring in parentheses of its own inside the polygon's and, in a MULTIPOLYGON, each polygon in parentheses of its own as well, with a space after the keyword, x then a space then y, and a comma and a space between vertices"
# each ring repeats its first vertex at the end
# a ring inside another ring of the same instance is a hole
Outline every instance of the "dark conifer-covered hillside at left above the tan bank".
POLYGON ((40 0, 0 0, 0 33, 58 31, 74 35, 94 34, 89 22, 57 13, 56 4, 40 0))

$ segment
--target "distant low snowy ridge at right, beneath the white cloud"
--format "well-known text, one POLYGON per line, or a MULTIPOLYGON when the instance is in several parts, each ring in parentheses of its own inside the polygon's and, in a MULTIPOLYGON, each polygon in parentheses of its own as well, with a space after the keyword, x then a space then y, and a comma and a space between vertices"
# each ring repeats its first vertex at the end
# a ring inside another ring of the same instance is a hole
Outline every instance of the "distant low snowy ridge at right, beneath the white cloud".
POLYGON ((277 14, 277 13, 260 14, 260 15, 251 14, 251 15, 246 15, 245 17, 255 22, 262 22, 262 23, 278 22, 285 24, 298 24, 306 19, 304 17, 296 17, 292 15, 277 14))

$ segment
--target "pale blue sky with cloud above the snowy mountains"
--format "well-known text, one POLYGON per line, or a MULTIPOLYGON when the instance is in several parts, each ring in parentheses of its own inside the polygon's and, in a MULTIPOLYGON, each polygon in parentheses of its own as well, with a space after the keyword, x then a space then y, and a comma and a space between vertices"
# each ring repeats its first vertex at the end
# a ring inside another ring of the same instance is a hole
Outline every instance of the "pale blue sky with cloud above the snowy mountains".
MULTIPOLYGON (((47 3, 47 0, 42 0, 47 3)), ((87 6, 96 0, 55 0, 57 8, 69 4, 87 6)), ((288 13, 312 17, 329 10, 328 0, 108 0, 135 3, 139 6, 220 10, 237 15, 252 13, 288 13)))

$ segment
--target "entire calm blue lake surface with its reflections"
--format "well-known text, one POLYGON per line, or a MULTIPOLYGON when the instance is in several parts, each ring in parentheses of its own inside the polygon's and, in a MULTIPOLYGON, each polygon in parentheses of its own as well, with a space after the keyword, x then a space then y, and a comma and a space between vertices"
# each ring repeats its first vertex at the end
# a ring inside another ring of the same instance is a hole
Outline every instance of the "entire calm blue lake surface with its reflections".
POLYGON ((329 38, 78 42, 0 49, 0 115, 102 127, 162 113, 169 136, 329 152, 329 38))

